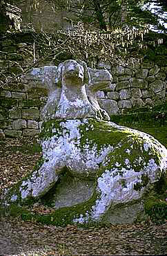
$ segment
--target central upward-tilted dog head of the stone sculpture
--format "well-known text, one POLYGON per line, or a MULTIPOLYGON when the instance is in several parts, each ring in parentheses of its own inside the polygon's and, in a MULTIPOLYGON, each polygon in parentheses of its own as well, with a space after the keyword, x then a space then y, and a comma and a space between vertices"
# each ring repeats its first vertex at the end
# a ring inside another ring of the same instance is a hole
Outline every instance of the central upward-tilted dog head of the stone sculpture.
POLYGON ((56 84, 61 86, 63 84, 75 84, 75 86, 82 86, 90 82, 90 74, 85 62, 80 60, 66 60, 59 64, 56 74, 56 84))

